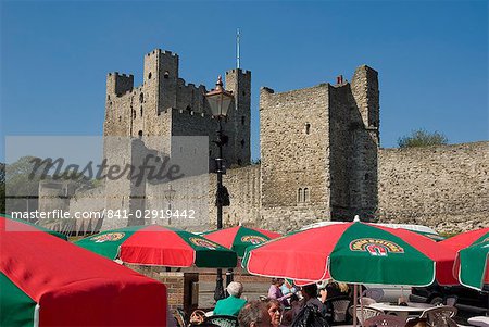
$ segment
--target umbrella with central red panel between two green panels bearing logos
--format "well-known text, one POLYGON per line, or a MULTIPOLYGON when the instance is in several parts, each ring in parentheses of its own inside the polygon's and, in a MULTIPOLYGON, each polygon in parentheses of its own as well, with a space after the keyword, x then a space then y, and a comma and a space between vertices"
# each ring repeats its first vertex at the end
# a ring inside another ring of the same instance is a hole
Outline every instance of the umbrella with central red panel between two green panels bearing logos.
POLYGON ((108 230, 76 244, 130 264, 205 268, 228 268, 237 264, 234 251, 192 232, 159 225, 108 230))

